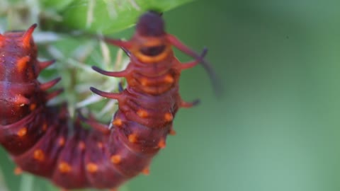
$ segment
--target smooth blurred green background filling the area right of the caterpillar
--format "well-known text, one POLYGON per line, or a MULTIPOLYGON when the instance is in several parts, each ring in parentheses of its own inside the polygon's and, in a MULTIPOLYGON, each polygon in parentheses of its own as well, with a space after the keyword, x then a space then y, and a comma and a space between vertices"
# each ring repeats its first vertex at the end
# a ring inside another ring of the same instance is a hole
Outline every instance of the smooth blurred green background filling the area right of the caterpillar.
MULTIPOLYGON (((167 30, 209 48, 225 94, 201 67, 183 72, 180 110, 149 176, 126 190, 340 190, 340 1, 194 1, 167 30)), ((132 30, 128 30, 127 37, 132 30)), ((179 59, 190 58, 179 54, 179 59)), ((4 151, 1 168, 9 187, 4 151)))

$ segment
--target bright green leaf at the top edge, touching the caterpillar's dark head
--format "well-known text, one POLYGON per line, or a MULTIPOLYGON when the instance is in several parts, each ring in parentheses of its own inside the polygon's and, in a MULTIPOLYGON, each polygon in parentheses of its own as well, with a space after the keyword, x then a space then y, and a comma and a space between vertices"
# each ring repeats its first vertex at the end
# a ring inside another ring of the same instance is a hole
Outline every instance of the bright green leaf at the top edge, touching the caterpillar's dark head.
MULTIPOLYGON (((59 1, 59 0, 52 0, 59 1)), ((64 27, 110 34, 130 27, 148 10, 167 11, 193 0, 77 0, 60 11, 64 27)))

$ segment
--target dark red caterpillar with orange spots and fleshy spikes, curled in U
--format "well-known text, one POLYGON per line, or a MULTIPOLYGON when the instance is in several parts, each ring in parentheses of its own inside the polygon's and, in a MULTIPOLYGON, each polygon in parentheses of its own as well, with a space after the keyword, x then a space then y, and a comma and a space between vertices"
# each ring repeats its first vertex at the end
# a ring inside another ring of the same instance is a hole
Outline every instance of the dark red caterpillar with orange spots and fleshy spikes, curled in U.
POLYGON ((47 93, 60 78, 40 83, 37 78, 53 61, 39 62, 32 25, 24 32, 0 35, 0 144, 24 171, 47 178, 63 189, 94 187, 113 189, 147 172, 166 136, 175 134, 172 123, 179 108, 191 108, 179 95, 181 71, 203 60, 165 32, 164 21, 149 11, 140 16, 128 41, 104 38, 123 48, 130 64, 123 71, 98 73, 125 78, 128 86, 119 93, 91 87, 91 91, 118 100, 118 111, 109 125, 78 115, 71 122, 65 105, 47 106, 62 90, 47 93), (179 62, 172 46, 194 61, 179 62), (91 129, 84 129, 86 122, 91 129))

